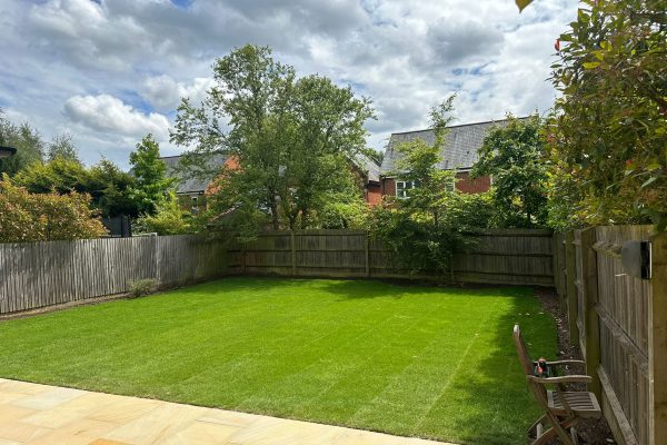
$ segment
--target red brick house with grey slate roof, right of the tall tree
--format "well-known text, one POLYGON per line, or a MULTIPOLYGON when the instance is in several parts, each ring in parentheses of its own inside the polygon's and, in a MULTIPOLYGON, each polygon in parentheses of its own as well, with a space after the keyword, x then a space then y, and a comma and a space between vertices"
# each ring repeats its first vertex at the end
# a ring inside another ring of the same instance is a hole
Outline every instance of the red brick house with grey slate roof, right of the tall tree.
MULTIPOLYGON (((469 177, 470 170, 478 159, 478 150, 481 148, 484 138, 495 126, 505 126, 507 120, 496 120, 487 122, 465 123, 449 127, 449 132, 445 138, 445 144, 440 149, 441 161, 439 168, 442 170, 456 170, 457 190, 464 194, 479 194, 487 191, 491 187, 491 178, 480 177, 472 179, 469 177)), ((391 134, 382 166, 380 167, 380 188, 384 196, 405 197, 407 190, 411 188, 409 181, 400 180, 400 172, 396 167, 396 161, 401 158, 397 147, 400 144, 409 142, 415 139, 422 139, 426 144, 434 144, 436 135, 434 130, 419 130, 391 134)))

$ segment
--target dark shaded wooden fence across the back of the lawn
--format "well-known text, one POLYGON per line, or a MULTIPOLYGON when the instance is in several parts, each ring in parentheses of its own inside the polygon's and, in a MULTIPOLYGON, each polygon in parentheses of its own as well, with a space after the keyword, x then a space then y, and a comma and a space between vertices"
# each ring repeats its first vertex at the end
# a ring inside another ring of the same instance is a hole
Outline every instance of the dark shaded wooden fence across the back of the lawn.
POLYGON ((554 286, 549 230, 484 230, 477 244, 457 255, 446 276, 410 275, 399 258, 364 230, 271 231, 230 249, 236 274, 281 276, 417 278, 509 285, 554 286))

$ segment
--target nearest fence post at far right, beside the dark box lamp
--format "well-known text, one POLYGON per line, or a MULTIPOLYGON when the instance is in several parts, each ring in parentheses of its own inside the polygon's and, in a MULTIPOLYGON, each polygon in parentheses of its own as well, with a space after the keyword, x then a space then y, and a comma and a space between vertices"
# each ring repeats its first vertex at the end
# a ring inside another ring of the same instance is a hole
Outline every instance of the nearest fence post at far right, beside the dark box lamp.
POLYGON ((648 443, 667 437, 667 233, 651 241, 651 293, 648 304, 648 443))

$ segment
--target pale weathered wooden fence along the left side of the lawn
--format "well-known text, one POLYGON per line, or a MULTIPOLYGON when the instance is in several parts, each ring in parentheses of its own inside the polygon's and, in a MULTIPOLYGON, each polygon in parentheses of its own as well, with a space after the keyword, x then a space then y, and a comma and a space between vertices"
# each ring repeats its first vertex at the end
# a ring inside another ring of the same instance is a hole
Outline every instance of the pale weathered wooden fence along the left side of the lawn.
POLYGON ((0 244, 0 314, 222 276, 226 243, 206 236, 0 244))

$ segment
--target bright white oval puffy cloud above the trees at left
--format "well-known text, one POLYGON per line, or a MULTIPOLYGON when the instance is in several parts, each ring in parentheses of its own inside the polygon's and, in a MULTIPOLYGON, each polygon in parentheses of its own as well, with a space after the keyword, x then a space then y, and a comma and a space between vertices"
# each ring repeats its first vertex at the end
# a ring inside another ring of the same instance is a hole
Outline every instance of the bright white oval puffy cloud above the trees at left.
POLYGON ((74 96, 64 102, 64 113, 88 129, 141 138, 152 134, 157 140, 169 138, 169 120, 160 113, 143 113, 109 95, 74 96))

